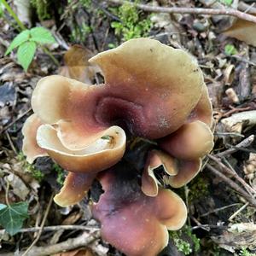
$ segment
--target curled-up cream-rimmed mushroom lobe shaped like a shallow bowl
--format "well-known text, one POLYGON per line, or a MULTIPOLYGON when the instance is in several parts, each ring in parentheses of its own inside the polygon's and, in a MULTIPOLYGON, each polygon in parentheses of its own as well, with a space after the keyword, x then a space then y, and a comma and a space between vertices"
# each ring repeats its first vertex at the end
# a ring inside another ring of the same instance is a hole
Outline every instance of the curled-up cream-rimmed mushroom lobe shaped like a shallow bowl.
POLYGON ((102 137, 89 146, 70 150, 65 148, 51 125, 38 128, 37 142, 62 168, 70 172, 101 172, 116 164, 125 153, 125 131, 119 126, 108 129, 108 137, 102 137))

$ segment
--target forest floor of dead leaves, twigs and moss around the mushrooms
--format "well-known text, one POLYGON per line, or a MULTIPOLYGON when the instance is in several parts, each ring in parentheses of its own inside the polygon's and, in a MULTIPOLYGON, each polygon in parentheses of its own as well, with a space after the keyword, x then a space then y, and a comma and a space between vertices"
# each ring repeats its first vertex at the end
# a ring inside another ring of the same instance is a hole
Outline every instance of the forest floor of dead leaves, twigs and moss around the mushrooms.
POLYGON ((187 223, 170 232, 168 247, 160 255, 256 255, 256 23, 244 16, 256 15, 256 4, 250 0, 137 3, 153 4, 154 9, 147 11, 143 5, 137 9, 122 1, 9 1, 24 26, 44 26, 55 38, 44 48, 37 44, 25 72, 15 49, 5 55, 20 30, 0 1, 0 226, 9 230, 0 230, 0 255, 122 255, 102 241, 100 225, 91 218, 90 194, 73 207, 53 202, 66 172, 47 157, 28 164, 21 150, 21 129, 32 114, 32 90, 39 79, 66 74, 76 66, 76 79, 98 82, 102 76, 90 67, 90 56, 139 37, 195 56, 215 119, 212 153, 197 177, 176 189, 189 210, 187 223), (157 7, 185 7, 191 13, 157 12, 157 7), (196 8, 213 12, 196 14, 196 8), (219 9, 237 13, 216 15, 214 10, 219 9), (67 54, 74 44, 82 47, 67 54), (3 205, 8 205, 9 216, 3 216, 3 205))

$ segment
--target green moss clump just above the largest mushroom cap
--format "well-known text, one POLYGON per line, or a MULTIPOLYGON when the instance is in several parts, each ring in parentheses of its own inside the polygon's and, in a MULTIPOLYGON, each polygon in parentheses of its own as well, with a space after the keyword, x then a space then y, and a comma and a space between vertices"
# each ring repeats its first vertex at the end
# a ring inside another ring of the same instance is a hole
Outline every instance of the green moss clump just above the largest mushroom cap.
POLYGON ((112 11, 114 15, 119 17, 120 21, 113 21, 111 26, 114 29, 114 33, 121 37, 122 41, 148 36, 151 20, 149 16, 143 19, 142 13, 138 12, 134 5, 124 3, 119 9, 112 9, 112 11))

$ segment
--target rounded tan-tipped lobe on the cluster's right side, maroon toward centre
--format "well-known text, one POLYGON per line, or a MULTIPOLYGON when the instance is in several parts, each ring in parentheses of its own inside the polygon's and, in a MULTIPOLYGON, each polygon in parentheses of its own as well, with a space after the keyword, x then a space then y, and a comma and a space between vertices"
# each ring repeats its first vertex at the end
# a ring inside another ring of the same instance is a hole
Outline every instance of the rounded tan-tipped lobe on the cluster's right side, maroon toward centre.
POLYGON ((185 124, 160 140, 160 148, 183 160, 201 158, 212 150, 213 145, 212 131, 201 121, 185 124))

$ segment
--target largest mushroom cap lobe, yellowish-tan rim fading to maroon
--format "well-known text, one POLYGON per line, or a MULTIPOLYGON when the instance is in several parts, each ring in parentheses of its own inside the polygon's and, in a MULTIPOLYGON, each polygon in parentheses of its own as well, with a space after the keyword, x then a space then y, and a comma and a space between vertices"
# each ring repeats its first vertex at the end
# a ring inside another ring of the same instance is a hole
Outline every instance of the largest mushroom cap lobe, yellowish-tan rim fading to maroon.
POLYGON ((132 131, 140 137, 154 139, 176 131, 201 98, 203 76, 195 59, 153 39, 131 39, 89 61, 102 68, 114 97, 143 108, 136 122, 131 120, 132 131))

